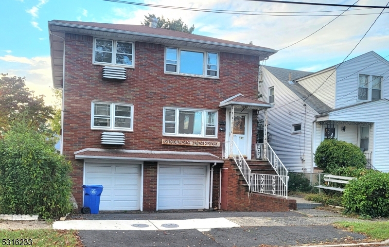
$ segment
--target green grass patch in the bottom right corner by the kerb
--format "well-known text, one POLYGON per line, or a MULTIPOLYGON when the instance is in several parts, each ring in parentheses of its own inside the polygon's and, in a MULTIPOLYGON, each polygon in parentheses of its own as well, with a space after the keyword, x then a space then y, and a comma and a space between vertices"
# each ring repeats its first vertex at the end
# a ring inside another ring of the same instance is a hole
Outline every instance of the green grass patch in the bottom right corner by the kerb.
POLYGON ((338 222, 337 225, 347 228, 357 233, 363 233, 372 239, 389 239, 389 221, 369 221, 369 222, 338 222))

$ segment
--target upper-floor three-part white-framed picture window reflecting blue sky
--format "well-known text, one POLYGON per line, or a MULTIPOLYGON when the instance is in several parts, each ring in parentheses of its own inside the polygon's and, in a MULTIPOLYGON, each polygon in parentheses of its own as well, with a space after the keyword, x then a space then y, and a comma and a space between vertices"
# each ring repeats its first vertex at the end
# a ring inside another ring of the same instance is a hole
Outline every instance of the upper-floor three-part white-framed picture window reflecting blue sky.
POLYGON ((166 47, 165 73, 219 78, 219 53, 166 47))

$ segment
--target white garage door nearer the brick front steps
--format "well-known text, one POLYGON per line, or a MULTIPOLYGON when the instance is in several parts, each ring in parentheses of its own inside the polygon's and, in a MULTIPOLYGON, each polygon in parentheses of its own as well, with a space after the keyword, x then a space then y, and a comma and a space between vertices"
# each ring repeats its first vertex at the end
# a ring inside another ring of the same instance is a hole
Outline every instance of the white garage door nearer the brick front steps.
POLYGON ((207 208, 207 165, 159 165, 158 209, 207 208))

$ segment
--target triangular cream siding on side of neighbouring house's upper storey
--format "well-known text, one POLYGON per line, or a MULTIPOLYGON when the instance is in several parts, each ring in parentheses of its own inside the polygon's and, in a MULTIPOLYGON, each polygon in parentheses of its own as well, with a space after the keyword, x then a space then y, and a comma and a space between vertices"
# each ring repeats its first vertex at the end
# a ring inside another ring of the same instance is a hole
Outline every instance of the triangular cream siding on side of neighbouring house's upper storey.
MULTIPOLYGON (((325 71, 325 72, 319 73, 317 75, 307 77, 306 79, 298 80, 297 82, 311 93, 313 93, 316 89, 318 89, 314 95, 319 100, 321 100, 324 104, 330 106, 331 108, 334 108, 335 107, 335 88, 336 88, 335 81, 336 81, 337 71, 335 71, 331 75, 331 73, 333 71, 334 70, 325 71), (323 84, 323 85, 320 87, 321 84, 323 84)), ((293 74, 292 74, 292 76, 293 76, 293 74)))

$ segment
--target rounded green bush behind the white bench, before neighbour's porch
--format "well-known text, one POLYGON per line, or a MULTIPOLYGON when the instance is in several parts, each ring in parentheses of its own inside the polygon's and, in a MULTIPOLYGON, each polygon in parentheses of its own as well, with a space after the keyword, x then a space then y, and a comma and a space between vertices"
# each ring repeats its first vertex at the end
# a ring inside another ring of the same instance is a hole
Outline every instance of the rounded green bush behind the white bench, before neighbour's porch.
POLYGON ((339 167, 364 168, 365 155, 361 149, 346 141, 325 139, 316 149, 315 163, 324 173, 332 173, 339 167))

